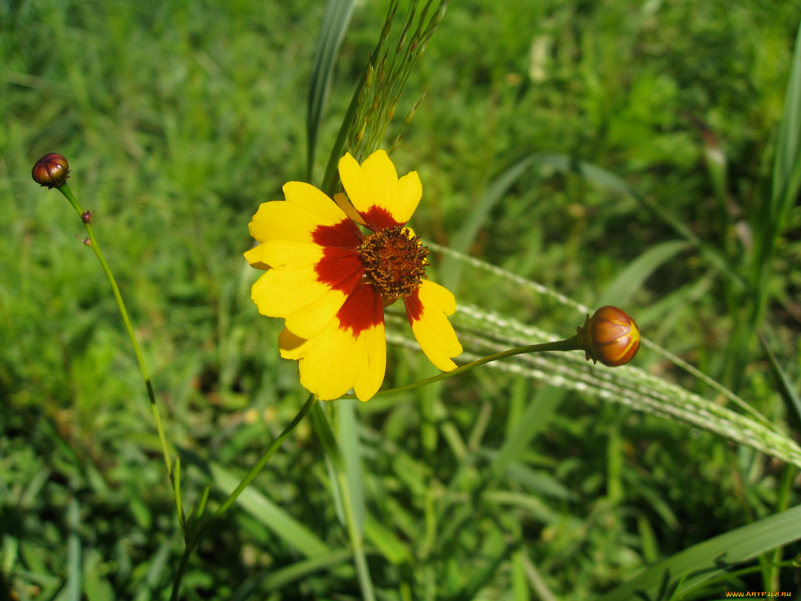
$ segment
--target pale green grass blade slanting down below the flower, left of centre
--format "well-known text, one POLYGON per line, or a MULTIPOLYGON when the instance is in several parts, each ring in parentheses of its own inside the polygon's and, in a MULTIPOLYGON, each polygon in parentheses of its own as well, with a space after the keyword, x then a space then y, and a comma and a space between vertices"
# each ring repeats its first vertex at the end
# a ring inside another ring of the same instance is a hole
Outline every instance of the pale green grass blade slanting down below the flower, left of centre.
MULTIPOLYGON (((239 478, 214 462, 210 462, 208 467, 219 490, 225 494, 231 494, 239 484, 239 478)), ((328 546, 320 538, 317 538, 316 534, 265 497, 264 494, 254 489, 253 486, 248 486, 243 490, 236 502, 264 526, 283 538, 288 545, 295 547, 307 557, 328 553, 328 546)))

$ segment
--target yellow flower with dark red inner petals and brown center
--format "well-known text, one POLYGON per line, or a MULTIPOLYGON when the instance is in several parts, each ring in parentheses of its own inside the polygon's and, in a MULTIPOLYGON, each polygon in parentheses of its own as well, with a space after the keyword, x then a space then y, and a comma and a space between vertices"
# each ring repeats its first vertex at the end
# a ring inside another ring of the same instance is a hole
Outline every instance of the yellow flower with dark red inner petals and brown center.
POLYGON ((322 400, 352 388, 367 401, 384 381, 384 307, 399 298, 434 365, 454 369, 462 349, 447 318, 456 299, 424 279, 429 250, 404 227, 423 193, 417 171, 398 179, 384 151, 361 165, 344 155, 339 167, 347 197, 332 202, 289 182, 285 201, 261 204, 249 226, 261 244, 245 258, 267 270, 251 298, 259 313, 284 317, 278 345, 281 357, 299 361, 300 383, 322 400))

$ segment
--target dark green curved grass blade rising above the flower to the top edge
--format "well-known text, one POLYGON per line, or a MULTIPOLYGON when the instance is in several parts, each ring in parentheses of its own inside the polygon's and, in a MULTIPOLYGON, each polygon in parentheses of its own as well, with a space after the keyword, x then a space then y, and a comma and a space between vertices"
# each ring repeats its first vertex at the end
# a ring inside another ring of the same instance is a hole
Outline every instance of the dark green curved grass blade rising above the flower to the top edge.
POLYGON ((320 26, 320 37, 314 51, 314 67, 312 67, 312 86, 308 91, 308 112, 306 115, 306 135, 308 139, 306 159, 306 181, 311 183, 314 168, 314 151, 317 143, 317 131, 323 117, 325 101, 331 89, 331 76, 334 72, 336 57, 340 52, 342 40, 348 30, 353 16, 355 0, 328 0, 320 26))

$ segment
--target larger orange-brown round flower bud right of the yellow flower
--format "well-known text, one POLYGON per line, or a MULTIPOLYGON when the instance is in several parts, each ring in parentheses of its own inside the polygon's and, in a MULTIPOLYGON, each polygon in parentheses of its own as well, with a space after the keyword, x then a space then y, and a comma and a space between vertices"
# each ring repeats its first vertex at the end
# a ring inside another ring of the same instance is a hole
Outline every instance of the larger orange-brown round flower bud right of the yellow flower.
POLYGON ((617 307, 607 305, 587 316, 578 328, 587 361, 603 365, 626 365, 640 348, 640 330, 634 320, 617 307))

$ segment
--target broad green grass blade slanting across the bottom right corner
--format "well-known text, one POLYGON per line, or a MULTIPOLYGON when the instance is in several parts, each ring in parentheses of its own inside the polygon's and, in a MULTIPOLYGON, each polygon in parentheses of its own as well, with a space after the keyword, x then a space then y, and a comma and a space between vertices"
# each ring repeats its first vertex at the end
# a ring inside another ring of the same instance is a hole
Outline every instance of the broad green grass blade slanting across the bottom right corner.
POLYGON ((677 583, 674 593, 680 594, 720 574, 727 567, 799 538, 801 506, 795 506, 677 553, 614 588, 598 601, 629 601, 635 595, 654 599, 660 587, 669 590, 677 583))

